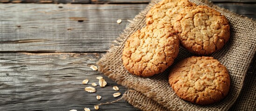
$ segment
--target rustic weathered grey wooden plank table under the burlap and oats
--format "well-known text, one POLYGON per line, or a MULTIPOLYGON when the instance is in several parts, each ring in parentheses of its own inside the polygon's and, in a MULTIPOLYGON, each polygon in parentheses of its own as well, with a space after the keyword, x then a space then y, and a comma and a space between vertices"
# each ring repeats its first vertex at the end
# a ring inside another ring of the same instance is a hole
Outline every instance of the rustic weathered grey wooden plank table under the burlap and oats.
MULTIPOLYGON (((256 19, 256 0, 212 0, 256 19)), ((83 111, 127 90, 91 65, 149 0, 0 0, 0 111, 83 111), (36 3, 36 4, 34 4, 36 3), (63 3, 63 4, 62 4, 63 3), (117 24, 117 19, 122 19, 117 24), (87 93, 84 79, 108 82, 87 93), (96 96, 102 99, 97 100, 96 96)), ((256 58, 256 57, 254 57, 256 58)), ((255 66, 255 59, 251 66, 255 66)), ((253 67, 255 68, 255 67, 253 67)), ((250 69, 255 74, 254 69, 250 69)), ((119 97, 120 98, 120 97, 119 97)), ((137 111, 124 100, 99 111, 137 111)))

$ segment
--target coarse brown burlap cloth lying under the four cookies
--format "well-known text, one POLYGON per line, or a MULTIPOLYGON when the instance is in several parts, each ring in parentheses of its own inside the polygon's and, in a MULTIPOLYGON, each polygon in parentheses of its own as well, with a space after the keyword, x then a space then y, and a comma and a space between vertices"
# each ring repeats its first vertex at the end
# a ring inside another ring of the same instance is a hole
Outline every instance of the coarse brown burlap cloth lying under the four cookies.
MULTIPOLYGON (((256 51, 256 21, 214 6, 207 0, 191 0, 191 2, 197 5, 208 5, 221 12, 229 20, 231 27, 229 42, 223 49, 210 55, 228 68, 231 85, 225 99, 212 105, 195 105, 180 99, 168 84, 168 72, 172 66, 164 73, 149 78, 138 77, 127 72, 121 59, 125 41, 134 31, 145 26, 145 14, 157 2, 159 0, 152 0, 144 11, 130 21, 131 23, 120 37, 112 43, 109 52, 97 63, 99 71, 118 84, 131 89, 124 94, 124 99, 143 111, 227 111, 235 102, 232 111, 255 110, 256 77, 255 74, 248 74, 247 71, 256 51), (245 80, 246 73, 249 76, 247 80, 245 80), (242 90, 244 84, 245 88, 242 90)), ((190 56, 193 54, 180 47, 174 64, 190 56)), ((252 70, 255 70, 255 67, 252 70)))

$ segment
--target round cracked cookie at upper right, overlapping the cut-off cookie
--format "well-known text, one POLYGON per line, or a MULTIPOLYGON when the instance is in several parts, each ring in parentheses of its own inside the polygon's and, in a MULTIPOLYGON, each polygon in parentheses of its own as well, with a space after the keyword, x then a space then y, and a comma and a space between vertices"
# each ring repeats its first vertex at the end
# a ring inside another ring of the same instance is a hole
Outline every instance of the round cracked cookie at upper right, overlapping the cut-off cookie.
POLYGON ((185 8, 177 16, 173 29, 179 33, 181 45, 198 55, 220 50, 230 36, 228 19, 208 6, 185 8))

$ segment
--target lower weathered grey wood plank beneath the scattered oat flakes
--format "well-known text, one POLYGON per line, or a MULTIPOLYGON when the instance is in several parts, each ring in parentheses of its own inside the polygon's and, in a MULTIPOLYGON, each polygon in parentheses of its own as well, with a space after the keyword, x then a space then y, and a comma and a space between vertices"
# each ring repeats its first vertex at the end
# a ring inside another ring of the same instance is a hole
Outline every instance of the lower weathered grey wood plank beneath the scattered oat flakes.
MULTIPOLYGON (((82 111, 93 105, 111 102, 118 98, 113 86, 125 92, 124 86, 117 85, 90 65, 95 64, 102 54, 98 53, 0 53, 0 111, 82 111), (87 93, 84 79, 89 84, 98 84, 97 76, 103 76, 108 85, 104 88, 93 86, 96 93, 87 93), (102 99, 97 100, 96 96, 102 99)), ((120 97, 119 97, 120 98, 120 97)), ((100 111, 137 110, 124 100, 111 105, 100 106, 100 111)))

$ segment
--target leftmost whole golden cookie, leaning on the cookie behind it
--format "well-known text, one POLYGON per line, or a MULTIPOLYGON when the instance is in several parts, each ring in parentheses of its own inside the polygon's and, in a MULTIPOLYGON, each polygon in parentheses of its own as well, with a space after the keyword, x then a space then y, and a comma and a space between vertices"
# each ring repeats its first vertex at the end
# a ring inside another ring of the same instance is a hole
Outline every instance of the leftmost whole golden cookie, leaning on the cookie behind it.
POLYGON ((170 25, 147 25, 125 43, 122 60, 137 76, 149 77, 171 66, 179 53, 179 38, 170 25))

